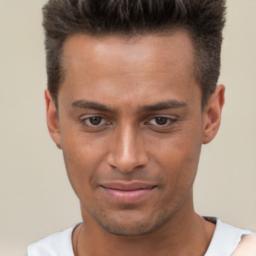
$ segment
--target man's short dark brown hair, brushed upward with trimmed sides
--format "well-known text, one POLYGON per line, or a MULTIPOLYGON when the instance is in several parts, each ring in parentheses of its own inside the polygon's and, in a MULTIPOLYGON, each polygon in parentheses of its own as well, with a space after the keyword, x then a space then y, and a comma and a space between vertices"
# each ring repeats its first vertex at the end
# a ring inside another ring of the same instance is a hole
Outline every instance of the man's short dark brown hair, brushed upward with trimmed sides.
POLYGON ((47 86, 57 105, 64 78, 62 45, 74 33, 133 35, 186 29, 194 48, 194 75, 202 106, 214 92, 220 70, 225 0, 49 0, 42 9, 47 86))

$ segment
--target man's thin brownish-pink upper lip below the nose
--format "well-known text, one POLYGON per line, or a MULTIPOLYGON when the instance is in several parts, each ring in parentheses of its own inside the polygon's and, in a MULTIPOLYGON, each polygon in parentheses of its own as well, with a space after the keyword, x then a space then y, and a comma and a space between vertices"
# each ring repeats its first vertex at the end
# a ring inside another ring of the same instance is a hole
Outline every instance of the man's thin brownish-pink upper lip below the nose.
POLYGON ((125 190, 125 191, 131 191, 131 190, 143 189, 143 188, 153 188, 155 186, 154 184, 148 184, 144 182, 108 182, 108 183, 102 183, 100 185, 106 188, 125 190))

